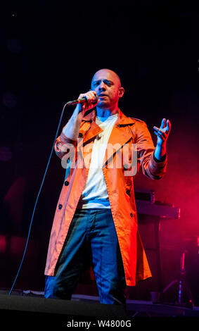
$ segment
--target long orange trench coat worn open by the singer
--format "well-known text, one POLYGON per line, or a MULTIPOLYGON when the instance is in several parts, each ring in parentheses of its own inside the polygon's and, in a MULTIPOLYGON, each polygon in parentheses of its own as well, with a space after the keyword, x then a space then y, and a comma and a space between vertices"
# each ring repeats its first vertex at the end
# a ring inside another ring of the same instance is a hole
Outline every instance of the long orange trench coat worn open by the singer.
MULTIPOLYGON (((68 155, 70 149, 68 146, 74 146, 76 154, 73 158, 73 162, 75 162, 73 165, 75 165, 66 169, 65 181, 58 199, 51 229, 45 275, 54 275, 60 251, 63 248, 70 223, 86 184, 94 139, 103 131, 101 127, 96 125, 95 116, 96 112, 92 111, 82 119, 79 129, 79 137, 82 138, 78 139, 80 142, 77 143, 69 139, 63 132, 56 139, 55 151, 62 160, 68 155), (63 146, 66 147, 64 151, 63 146), (82 149, 83 146, 85 151, 82 149), (86 152, 87 150, 89 153, 86 152), (77 160, 82 154, 79 153, 80 156, 77 156, 77 151, 82 151, 84 156, 84 163, 80 167, 77 166, 77 160)), ((158 180, 165 174, 167 156, 165 161, 156 162, 153 158, 155 146, 146 123, 143 120, 125 116, 120 109, 108 144, 113 144, 114 148, 112 155, 108 155, 106 151, 103 175, 120 244, 126 283, 127 286, 134 286, 136 282, 151 277, 151 273, 138 230, 133 176, 125 175, 127 169, 124 165, 122 167, 115 166, 116 157, 119 153, 122 155, 124 147, 128 146, 130 163, 132 156, 130 147, 131 144, 136 144, 137 170, 141 166, 144 175, 158 180)))

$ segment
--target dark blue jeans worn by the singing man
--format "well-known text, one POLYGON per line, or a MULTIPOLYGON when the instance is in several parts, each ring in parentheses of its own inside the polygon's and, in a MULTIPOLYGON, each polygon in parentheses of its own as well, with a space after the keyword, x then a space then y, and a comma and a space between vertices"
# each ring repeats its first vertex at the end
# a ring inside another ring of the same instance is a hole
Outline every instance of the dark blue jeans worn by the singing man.
POLYGON ((71 299, 82 270, 93 267, 101 304, 125 306, 126 281, 110 209, 77 209, 44 296, 71 299))

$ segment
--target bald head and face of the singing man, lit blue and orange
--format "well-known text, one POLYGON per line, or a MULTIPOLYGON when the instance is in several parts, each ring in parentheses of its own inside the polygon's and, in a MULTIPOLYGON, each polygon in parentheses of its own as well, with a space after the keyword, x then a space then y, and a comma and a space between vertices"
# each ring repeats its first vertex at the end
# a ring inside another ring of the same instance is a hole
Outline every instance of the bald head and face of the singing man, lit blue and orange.
POLYGON ((109 69, 101 69, 95 73, 91 82, 91 89, 98 94, 99 108, 117 105, 119 98, 124 94, 120 78, 109 69))

